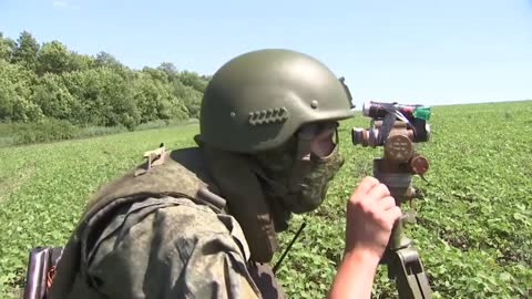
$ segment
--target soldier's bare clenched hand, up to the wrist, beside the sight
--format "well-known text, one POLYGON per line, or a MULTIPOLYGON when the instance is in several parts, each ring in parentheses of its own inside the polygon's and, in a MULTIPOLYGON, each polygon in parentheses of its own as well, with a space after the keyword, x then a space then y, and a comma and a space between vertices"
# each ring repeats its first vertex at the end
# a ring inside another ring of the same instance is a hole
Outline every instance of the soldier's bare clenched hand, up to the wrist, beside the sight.
POLYGON ((388 187, 365 177, 347 203, 346 255, 357 251, 380 260, 400 216, 388 187))

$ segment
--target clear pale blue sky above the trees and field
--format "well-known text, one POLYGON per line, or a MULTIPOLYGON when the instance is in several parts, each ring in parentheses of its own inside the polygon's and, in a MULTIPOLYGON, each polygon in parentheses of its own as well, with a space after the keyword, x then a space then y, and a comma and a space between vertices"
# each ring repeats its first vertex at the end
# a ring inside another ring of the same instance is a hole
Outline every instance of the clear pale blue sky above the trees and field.
POLYGON ((366 100, 532 99, 532 0, 0 0, 0 31, 212 74, 263 48, 308 53, 366 100))

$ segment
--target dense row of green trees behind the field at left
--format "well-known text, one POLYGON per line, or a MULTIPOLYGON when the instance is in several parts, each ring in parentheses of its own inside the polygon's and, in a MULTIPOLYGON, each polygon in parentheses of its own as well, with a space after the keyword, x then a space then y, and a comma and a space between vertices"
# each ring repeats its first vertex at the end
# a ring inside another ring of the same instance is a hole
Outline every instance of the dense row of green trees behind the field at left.
POLYGON ((208 76, 170 62, 132 70, 109 53, 42 44, 0 32, 0 122, 61 120, 74 126, 125 126, 198 116, 208 76))

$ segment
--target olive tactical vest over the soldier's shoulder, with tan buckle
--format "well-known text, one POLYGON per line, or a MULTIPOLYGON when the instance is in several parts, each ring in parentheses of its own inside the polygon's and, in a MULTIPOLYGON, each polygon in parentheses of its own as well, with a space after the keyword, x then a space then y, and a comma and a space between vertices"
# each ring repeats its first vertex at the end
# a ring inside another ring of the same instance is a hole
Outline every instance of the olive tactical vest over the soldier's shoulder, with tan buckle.
MULTIPOLYGON (((85 272, 89 247, 94 238, 98 238, 109 217, 115 215, 124 205, 147 197, 172 196, 190 198, 197 204, 208 205, 216 213, 224 213, 225 200, 216 195, 216 186, 212 183, 204 161, 198 148, 170 153, 165 153, 163 148, 158 153, 150 153, 146 163, 102 188, 90 200, 84 216, 63 250, 49 298, 68 298, 76 285, 90 282, 85 272)), ((246 244, 244 236, 241 241, 246 244)), ((249 252, 243 254, 247 260, 249 252)), ((255 272, 262 270, 260 267, 250 267, 252 277, 257 277, 255 272)), ((273 274, 270 276, 270 279, 275 280, 273 274)), ((260 281, 256 282, 260 289, 260 281)))

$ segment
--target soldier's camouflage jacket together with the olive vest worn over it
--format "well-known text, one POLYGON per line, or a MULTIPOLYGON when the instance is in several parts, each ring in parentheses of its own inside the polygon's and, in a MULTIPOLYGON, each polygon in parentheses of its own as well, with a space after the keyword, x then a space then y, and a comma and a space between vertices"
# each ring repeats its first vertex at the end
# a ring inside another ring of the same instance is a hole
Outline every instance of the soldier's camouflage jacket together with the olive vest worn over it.
POLYGON ((160 165, 150 161, 100 190, 49 298, 283 297, 268 268, 248 260, 242 228, 219 210, 201 155, 163 153, 160 165))

